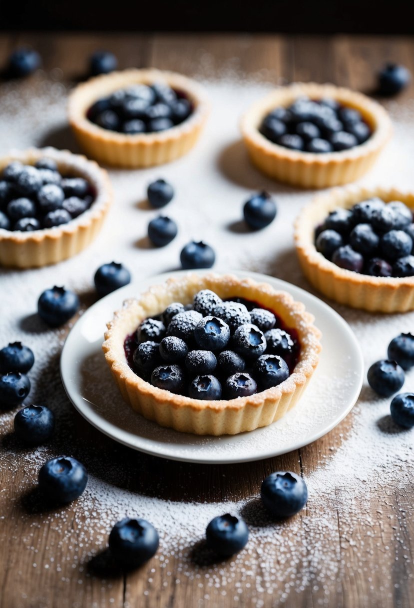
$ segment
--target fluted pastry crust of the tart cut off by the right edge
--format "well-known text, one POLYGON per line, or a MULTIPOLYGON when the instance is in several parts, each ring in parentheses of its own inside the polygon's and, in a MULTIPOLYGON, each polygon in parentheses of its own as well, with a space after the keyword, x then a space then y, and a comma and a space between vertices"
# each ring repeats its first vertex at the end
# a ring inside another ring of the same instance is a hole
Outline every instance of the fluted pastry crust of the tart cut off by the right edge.
POLYGON ((414 277, 371 277, 339 268, 317 252, 315 228, 330 211, 350 209, 357 202, 378 196, 385 202, 402 201, 414 209, 414 193, 396 188, 336 188, 316 196, 302 209, 295 223, 294 240, 302 271, 308 281, 340 304, 376 313, 405 313, 414 309, 414 277))

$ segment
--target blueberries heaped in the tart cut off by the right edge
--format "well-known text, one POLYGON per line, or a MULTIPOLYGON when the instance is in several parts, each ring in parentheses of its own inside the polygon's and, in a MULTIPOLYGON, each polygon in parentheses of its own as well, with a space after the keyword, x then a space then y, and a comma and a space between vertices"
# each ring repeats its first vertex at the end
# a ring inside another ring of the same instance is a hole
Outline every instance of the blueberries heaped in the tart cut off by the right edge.
POLYGON ((336 209, 316 228, 315 246, 340 268, 373 277, 412 277, 412 210, 401 201, 380 198, 336 209))

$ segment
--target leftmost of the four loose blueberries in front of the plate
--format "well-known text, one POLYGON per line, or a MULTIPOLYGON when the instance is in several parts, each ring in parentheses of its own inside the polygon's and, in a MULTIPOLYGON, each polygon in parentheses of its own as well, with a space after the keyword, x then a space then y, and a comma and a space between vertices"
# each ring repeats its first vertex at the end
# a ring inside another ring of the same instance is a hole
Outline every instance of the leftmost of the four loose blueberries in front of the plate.
POLYGON ((54 502, 75 500, 81 496, 86 484, 86 469, 70 456, 52 458, 39 471, 39 488, 54 502))

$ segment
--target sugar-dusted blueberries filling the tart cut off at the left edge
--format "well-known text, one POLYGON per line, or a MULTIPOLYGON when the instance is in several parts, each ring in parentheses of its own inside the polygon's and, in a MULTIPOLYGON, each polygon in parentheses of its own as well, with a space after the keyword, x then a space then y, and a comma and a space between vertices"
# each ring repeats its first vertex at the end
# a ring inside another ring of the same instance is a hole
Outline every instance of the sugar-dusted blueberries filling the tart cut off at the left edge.
POLYGON ((94 198, 86 179, 62 176, 52 159, 34 167, 13 161, 0 175, 0 228, 32 232, 67 224, 94 198))

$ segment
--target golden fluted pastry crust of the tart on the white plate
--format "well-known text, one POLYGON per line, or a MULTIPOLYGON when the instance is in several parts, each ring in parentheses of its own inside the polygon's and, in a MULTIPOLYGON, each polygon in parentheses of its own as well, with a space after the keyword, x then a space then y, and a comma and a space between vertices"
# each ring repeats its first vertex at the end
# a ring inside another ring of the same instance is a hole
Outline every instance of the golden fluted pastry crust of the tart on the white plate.
POLYGON ((267 426, 297 403, 319 361, 321 333, 302 303, 267 283, 214 273, 185 274, 157 285, 137 299, 127 300, 107 325, 103 351, 124 400, 144 418, 161 426, 196 435, 235 435, 267 426), (124 340, 146 317, 159 314, 172 302, 191 303, 200 289, 212 289, 226 299, 236 295, 271 309, 297 330, 299 361, 293 373, 277 387, 249 397, 202 401, 158 389, 137 376, 127 364, 124 340))

